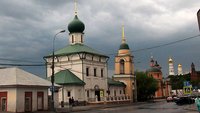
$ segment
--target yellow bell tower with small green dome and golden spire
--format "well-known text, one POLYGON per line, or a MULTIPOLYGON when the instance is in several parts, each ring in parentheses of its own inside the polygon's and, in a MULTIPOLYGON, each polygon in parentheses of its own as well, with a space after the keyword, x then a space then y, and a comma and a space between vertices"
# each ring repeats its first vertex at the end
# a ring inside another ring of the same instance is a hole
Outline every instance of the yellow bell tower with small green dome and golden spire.
POLYGON ((122 26, 122 43, 115 56, 115 75, 114 80, 123 82, 126 85, 125 94, 130 96, 133 101, 134 97, 134 65, 133 56, 129 49, 124 36, 124 26, 122 26))

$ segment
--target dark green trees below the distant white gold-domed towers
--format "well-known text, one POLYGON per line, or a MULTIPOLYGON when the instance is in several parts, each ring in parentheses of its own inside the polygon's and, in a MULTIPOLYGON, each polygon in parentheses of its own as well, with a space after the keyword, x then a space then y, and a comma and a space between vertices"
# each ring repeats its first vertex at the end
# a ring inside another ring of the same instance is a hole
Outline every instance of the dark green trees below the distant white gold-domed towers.
POLYGON ((190 75, 170 75, 168 76, 170 78, 170 84, 172 86, 172 90, 176 89, 183 89, 183 83, 184 81, 190 81, 190 75))

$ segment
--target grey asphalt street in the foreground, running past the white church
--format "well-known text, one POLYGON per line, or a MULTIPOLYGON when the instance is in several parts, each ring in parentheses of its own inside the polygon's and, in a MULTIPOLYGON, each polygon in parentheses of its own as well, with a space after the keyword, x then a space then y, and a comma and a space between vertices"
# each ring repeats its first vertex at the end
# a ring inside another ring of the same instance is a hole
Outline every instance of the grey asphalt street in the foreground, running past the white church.
POLYGON ((140 105, 130 105, 105 109, 93 109, 76 113, 196 113, 197 111, 185 110, 192 105, 177 106, 174 102, 157 102, 140 105))

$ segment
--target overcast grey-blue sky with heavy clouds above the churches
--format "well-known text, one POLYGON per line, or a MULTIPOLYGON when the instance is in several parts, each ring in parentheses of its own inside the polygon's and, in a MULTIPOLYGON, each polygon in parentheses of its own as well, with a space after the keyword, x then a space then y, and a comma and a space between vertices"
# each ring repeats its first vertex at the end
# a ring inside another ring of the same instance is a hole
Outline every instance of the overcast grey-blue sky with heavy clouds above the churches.
MULTIPOLYGON (((136 51, 200 34, 196 16, 200 9, 199 0, 77 2, 78 17, 86 27, 84 43, 109 55, 109 76, 112 76, 114 56, 121 43, 122 24, 127 43, 133 51, 135 69, 148 69, 150 56, 153 55, 165 76, 168 74, 169 56, 174 60, 175 73, 179 63, 183 66, 183 72, 189 72, 192 62, 200 70, 200 37, 136 51)), ((0 63, 43 63, 43 56, 52 52, 54 35, 62 29, 67 30, 73 18, 73 0, 0 0, 0 63)), ((59 34, 55 48, 67 44, 68 32, 59 34)), ((45 76, 45 67, 22 68, 45 76)))

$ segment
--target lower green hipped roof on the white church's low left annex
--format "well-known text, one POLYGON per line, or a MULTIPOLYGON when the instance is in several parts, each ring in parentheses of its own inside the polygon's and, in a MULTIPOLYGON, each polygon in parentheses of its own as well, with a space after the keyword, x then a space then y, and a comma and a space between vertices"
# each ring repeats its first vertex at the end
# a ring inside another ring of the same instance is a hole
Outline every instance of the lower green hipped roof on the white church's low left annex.
MULTIPOLYGON (((54 77, 55 83, 59 85, 85 85, 85 82, 83 82, 68 69, 56 73, 54 77)), ((51 77, 49 77, 48 79, 50 78, 51 77)))

